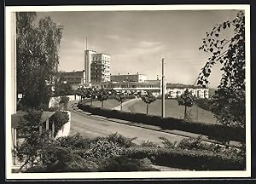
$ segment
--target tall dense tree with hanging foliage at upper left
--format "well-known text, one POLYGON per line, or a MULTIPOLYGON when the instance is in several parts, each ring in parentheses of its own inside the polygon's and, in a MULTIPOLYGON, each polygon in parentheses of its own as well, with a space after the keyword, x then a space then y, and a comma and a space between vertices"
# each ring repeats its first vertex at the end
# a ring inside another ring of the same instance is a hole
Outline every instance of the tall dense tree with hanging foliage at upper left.
POLYGON ((36 13, 16 13, 17 93, 22 106, 48 106, 52 83, 59 64, 62 26, 49 16, 33 24, 36 13))

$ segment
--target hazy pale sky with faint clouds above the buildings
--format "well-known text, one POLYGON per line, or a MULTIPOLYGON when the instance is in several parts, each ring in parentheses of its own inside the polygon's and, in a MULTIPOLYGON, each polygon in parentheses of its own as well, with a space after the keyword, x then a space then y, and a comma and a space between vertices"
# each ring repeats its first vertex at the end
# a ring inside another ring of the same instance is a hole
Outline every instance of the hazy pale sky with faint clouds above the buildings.
MULTIPOLYGON (((59 70, 84 69, 85 38, 88 49, 111 56, 115 74, 161 75, 165 60, 167 83, 193 84, 210 56, 198 48, 206 32, 236 18, 236 10, 38 12, 64 26, 59 70)), ((224 32, 224 36, 229 33, 224 32)), ((209 87, 218 86, 220 66, 214 66, 209 87)))

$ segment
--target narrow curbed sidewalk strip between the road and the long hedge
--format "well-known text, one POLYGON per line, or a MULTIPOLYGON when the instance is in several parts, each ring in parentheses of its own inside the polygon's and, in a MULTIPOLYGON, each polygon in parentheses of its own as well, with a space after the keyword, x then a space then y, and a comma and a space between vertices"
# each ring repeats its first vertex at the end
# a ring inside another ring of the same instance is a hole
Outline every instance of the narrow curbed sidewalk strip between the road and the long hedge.
MULTIPOLYGON (((191 132, 185 132, 185 131, 181 131, 181 130, 177 130, 177 129, 172 129, 172 130, 162 129, 162 128, 160 128, 158 126, 154 126, 154 125, 140 124, 140 123, 130 122, 130 121, 126 121, 126 120, 123 120, 123 119, 117 119, 117 118, 106 118, 106 117, 103 117, 103 116, 100 116, 100 115, 92 114, 90 112, 84 112, 83 110, 81 110, 77 107, 77 103, 73 103, 71 105, 71 107, 73 108, 74 111, 82 113, 84 115, 91 116, 91 117, 94 117, 94 118, 100 118, 100 119, 108 119, 108 121, 110 120, 112 122, 119 123, 119 124, 128 124, 128 125, 131 125, 131 126, 137 126, 137 127, 141 127, 141 128, 144 128, 144 129, 152 129, 152 130, 155 130, 155 131, 161 131, 161 132, 169 133, 169 134, 172 134, 172 135, 180 135, 180 136, 188 137, 188 138, 197 138, 199 136, 198 134, 194 134, 194 133, 191 133, 191 132)), ((202 140, 205 141, 205 142, 224 145, 224 144, 222 144, 218 141, 208 139, 207 135, 202 135, 202 140)), ((227 145, 224 145, 224 146, 227 146, 227 145)), ((239 147, 241 147, 241 144, 238 141, 230 141, 229 146, 239 148, 239 147)))

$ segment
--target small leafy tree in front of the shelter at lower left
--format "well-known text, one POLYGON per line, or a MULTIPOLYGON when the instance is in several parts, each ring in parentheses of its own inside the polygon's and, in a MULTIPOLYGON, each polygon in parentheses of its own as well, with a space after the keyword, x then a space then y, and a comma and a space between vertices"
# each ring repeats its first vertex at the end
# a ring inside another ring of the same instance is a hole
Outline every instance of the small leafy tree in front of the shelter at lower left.
POLYGON ((26 164, 31 164, 33 167, 36 160, 40 162, 42 152, 44 151, 43 147, 50 143, 49 130, 43 129, 42 132, 39 132, 41 116, 41 111, 29 110, 21 118, 18 134, 24 138, 24 141, 15 147, 15 155, 19 158, 20 162, 24 162, 20 166, 19 171, 26 164))

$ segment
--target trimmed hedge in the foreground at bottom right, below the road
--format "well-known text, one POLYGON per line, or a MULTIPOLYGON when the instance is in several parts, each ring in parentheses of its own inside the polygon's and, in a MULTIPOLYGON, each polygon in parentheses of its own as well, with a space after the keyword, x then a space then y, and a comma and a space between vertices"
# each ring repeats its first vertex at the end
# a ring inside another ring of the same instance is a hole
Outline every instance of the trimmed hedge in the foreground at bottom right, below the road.
POLYGON ((221 153, 180 148, 132 147, 122 153, 126 158, 149 158, 153 164, 188 170, 245 170, 245 159, 221 153))

